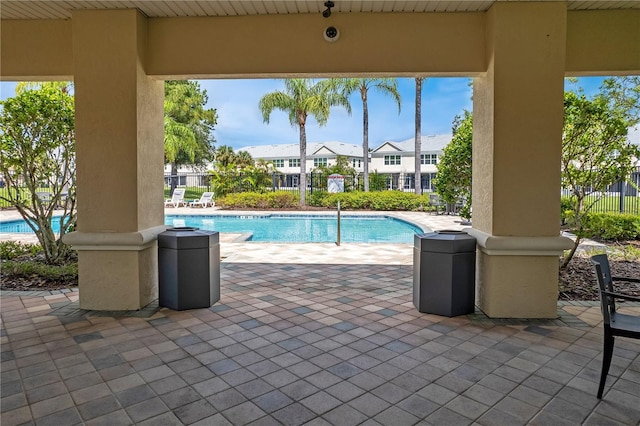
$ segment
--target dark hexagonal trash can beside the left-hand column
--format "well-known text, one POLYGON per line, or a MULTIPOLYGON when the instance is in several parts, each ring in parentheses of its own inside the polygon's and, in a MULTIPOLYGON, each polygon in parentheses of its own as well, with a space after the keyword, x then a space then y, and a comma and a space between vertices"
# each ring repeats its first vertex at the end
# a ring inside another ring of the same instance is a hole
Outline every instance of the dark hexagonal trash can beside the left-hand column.
POLYGON ((158 235, 158 304, 176 311, 220 300, 220 244, 214 231, 169 228, 158 235))

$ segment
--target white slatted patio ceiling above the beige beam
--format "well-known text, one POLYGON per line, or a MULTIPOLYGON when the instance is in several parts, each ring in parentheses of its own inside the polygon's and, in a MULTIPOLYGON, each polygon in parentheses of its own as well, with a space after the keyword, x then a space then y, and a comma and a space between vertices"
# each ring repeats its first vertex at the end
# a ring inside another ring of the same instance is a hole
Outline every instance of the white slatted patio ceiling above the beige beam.
MULTIPOLYGON (((532 0, 497 0, 532 1, 532 0)), ((334 0, 334 12, 477 12, 496 0, 334 0)), ((640 9, 638 0, 569 0, 569 10, 640 9)), ((70 19, 79 9, 139 9, 152 18, 320 13, 324 0, 23 1, 3 0, 1 19, 70 19)))

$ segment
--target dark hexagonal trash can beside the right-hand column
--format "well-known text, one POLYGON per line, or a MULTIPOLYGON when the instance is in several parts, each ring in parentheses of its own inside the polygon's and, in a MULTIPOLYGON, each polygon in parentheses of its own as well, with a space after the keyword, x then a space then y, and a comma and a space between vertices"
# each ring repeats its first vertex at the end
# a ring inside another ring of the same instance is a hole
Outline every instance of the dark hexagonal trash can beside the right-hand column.
POLYGON ((416 234, 413 304, 422 313, 454 317, 475 311, 476 239, 464 231, 416 234))

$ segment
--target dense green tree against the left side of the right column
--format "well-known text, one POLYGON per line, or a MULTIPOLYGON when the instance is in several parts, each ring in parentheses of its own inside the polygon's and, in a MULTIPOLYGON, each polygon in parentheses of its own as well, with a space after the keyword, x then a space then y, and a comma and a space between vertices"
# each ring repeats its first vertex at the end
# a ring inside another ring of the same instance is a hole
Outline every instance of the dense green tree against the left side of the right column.
POLYGON ((462 201, 460 216, 471 218, 473 117, 469 111, 453 121, 453 139, 438 162, 434 186, 446 203, 462 201))

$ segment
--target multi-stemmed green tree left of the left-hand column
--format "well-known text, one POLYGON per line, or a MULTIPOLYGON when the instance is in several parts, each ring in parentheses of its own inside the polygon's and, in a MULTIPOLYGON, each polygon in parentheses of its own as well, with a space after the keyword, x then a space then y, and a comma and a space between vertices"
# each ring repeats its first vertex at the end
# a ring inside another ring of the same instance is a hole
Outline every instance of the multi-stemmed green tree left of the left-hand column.
POLYGON ((50 264, 70 253, 62 236, 76 222, 74 102, 58 86, 22 87, 0 102, 0 172, 7 185, 2 198, 33 229, 50 264), (52 229, 57 209, 58 237, 52 229))

